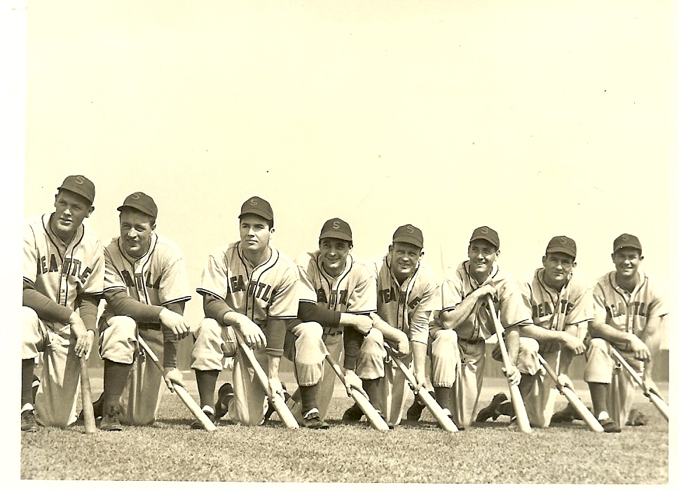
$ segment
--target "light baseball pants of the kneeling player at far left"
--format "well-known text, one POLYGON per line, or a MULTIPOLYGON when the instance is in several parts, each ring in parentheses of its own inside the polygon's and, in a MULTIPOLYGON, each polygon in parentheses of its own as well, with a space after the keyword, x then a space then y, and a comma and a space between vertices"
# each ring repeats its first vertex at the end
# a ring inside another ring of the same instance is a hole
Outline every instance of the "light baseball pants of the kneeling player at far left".
POLYGON ((34 407, 36 421, 42 426, 65 428, 76 421, 80 360, 70 337, 69 325, 43 322, 33 309, 22 307, 21 358, 35 359, 43 352, 34 407))

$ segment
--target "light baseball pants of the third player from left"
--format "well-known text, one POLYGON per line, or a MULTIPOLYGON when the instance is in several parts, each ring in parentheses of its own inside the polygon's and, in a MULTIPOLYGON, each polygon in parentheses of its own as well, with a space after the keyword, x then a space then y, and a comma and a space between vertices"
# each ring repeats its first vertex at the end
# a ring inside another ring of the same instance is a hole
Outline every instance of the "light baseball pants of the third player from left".
MULTIPOLYGON (((191 369, 221 371, 224 360, 233 357, 233 400, 228 404, 228 418, 244 426, 259 426, 264 420, 266 391, 256 377, 254 368, 243 353, 232 327, 221 327, 212 318, 205 318, 194 332, 191 369)), ((268 356, 264 348, 254 350, 264 372, 268 372, 268 356)))

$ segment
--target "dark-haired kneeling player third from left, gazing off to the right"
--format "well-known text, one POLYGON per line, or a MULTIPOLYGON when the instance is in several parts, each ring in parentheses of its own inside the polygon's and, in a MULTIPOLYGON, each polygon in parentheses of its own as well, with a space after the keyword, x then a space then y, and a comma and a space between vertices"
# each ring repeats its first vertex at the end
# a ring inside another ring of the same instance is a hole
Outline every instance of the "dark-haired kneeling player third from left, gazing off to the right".
MULTIPOLYGON (((251 197, 240 209, 240 241, 210 254, 196 289, 203 295, 205 319, 194 333, 191 367, 203 412, 214 421, 228 412, 235 423, 263 423, 266 392, 252 377, 249 361, 238 346, 234 329, 268 370, 269 387, 283 396, 278 365, 283 354, 287 323, 297 316, 297 266, 270 246, 274 233, 273 210, 261 197, 251 197), (233 386, 214 388, 225 356, 235 356, 233 386)), ((203 428, 196 421, 192 428, 203 428)))

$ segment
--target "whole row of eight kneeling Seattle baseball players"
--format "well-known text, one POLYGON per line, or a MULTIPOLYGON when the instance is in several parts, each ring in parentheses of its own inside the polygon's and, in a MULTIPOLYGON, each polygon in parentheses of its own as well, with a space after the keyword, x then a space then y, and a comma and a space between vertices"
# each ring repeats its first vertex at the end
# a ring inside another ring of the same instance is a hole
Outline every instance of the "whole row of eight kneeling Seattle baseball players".
MULTIPOLYGON (((73 361, 92 349, 102 297, 106 307, 98 330, 104 392, 95 402, 101 428, 153 423, 163 379, 167 386, 184 382, 177 370, 177 343, 191 330, 184 319, 191 290, 181 251, 156 234, 158 209, 144 193, 125 198, 118 207, 121 235, 102 247, 82 224, 94 209, 94 197, 91 181, 69 176, 57 188, 55 212, 25 228, 22 430, 76 421, 79 372, 73 361), (162 373, 141 362, 137 335, 162 358, 162 373), (39 356, 42 371, 35 391, 39 356)), ((406 379, 387 356, 385 343, 412 368, 413 388, 432 390, 458 428, 512 416, 503 394, 479 410, 486 339, 495 333, 493 310, 500 314, 512 359, 505 374, 519 384, 533 426, 549 425, 556 398, 539 356, 570 384, 566 373, 572 357, 586 353, 584 379, 594 413, 608 432, 620 430, 633 401, 633 385, 616 369, 612 347, 644 371, 654 388, 649 374, 668 306, 656 281, 639 269, 642 249, 633 235, 615 239, 615 270, 594 288, 574 269, 575 241, 563 236, 549 241, 543 267, 519 285, 495 262, 498 233, 482 226, 472 232, 468 260, 439 286, 420 260, 423 234, 413 225, 399 227, 383 260, 371 263, 351 255, 350 226, 333 218, 322 227, 319 249, 292 262, 269 244, 273 210, 266 200, 247 200, 238 218, 240 240, 210 254, 197 288, 205 319, 192 332, 191 368, 200 404, 213 421, 228 416, 235 423, 258 425, 272 412, 248 369, 237 332, 254 349, 271 391, 287 395, 278 367, 282 356, 294 362, 299 389, 288 405, 309 428, 328 428, 324 415, 334 373, 324 359, 327 353, 339 358, 342 351, 345 384, 364 390, 390 426, 401 421, 406 379), (215 402, 217 377, 228 357, 234 358, 233 384, 221 386, 215 402)), ((422 409, 416 400, 409 419, 418 419, 422 409)), ((357 421, 362 415, 354 405, 343 418, 357 421)), ((558 416, 572 419, 568 409, 558 416)), ((203 428, 198 421, 192 427, 203 428)))

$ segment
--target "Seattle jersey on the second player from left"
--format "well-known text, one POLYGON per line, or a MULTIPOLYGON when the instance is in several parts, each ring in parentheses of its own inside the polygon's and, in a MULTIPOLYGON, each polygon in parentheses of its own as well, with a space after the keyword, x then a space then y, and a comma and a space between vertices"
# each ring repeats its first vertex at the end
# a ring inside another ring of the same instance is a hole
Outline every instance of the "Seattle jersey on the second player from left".
MULTIPOLYGON (((184 255, 174 241, 151 234, 149 250, 139 258, 123 248, 121 237, 104 249, 104 293, 125 290, 135 300, 153 306, 191 300, 184 255)), ((111 315, 104 309, 104 316, 111 315)))

